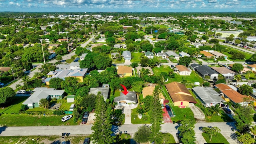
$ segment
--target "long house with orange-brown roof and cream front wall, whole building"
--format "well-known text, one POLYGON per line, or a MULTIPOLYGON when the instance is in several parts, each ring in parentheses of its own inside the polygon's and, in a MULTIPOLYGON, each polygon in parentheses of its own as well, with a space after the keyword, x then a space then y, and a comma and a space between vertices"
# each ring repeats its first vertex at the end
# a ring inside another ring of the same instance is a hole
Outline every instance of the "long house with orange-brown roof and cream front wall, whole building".
POLYGON ((185 107, 188 106, 190 102, 196 103, 196 100, 193 98, 184 84, 171 82, 165 86, 170 97, 172 98, 172 101, 174 102, 174 106, 185 107))

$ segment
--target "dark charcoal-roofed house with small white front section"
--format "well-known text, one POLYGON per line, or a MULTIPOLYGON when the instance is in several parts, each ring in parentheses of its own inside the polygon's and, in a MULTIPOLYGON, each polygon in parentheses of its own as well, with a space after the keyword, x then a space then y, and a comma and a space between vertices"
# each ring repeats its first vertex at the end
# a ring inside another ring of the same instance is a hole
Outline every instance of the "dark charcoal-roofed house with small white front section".
POLYGON ((195 70, 200 76, 202 76, 202 78, 204 78, 205 76, 210 76, 210 80, 218 79, 218 72, 216 72, 207 65, 198 66, 195 68, 195 70))

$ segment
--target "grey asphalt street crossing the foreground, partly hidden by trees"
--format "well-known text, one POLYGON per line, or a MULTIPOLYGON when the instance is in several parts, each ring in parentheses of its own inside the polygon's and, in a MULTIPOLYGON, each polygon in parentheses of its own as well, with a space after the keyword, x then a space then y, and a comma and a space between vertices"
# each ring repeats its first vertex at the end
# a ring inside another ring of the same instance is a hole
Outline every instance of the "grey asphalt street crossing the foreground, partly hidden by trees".
MULTIPOLYGON (((128 134, 133 135, 138 127, 143 124, 124 124, 122 126, 113 126, 112 131, 115 134, 119 132, 124 133, 127 131, 128 134)), ((79 125, 79 126, 15 126, 15 127, 2 127, 0 128, 0 136, 50 136, 50 135, 61 135, 63 132, 70 133, 70 135, 89 135, 92 134, 92 124, 90 125, 79 125)), ((234 132, 231 128, 234 128, 233 122, 198 122, 195 124, 196 132, 196 143, 205 143, 202 137, 202 131, 200 128, 207 126, 217 126, 220 128, 220 133, 228 140, 230 144, 237 144, 236 140, 232 139, 234 132)), ((162 132, 168 132, 174 136, 176 142, 176 133, 178 132, 178 124, 166 123, 162 124, 162 132)))

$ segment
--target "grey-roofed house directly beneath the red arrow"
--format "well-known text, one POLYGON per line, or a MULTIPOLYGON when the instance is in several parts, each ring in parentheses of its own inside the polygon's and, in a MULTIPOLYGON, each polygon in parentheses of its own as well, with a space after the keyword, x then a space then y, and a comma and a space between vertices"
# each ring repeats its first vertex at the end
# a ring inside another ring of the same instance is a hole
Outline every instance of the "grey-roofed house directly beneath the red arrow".
POLYGON ((137 104, 137 95, 135 92, 128 91, 128 94, 124 95, 122 92, 120 93, 120 96, 114 98, 114 102, 117 102, 119 105, 126 105, 126 104, 137 104))

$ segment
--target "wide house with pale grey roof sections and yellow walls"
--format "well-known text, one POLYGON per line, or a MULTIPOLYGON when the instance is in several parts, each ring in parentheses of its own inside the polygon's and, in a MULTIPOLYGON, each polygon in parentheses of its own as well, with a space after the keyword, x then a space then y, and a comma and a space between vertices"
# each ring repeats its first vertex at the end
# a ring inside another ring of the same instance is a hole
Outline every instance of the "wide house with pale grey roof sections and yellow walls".
POLYGON ((50 80, 52 78, 61 78, 65 80, 66 77, 74 77, 79 78, 79 82, 83 82, 84 77, 86 76, 88 68, 78 68, 75 70, 55 70, 50 71, 48 74, 48 78, 45 79, 46 85, 50 84, 50 80))

